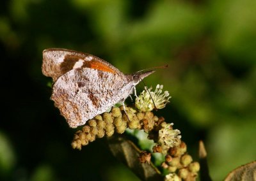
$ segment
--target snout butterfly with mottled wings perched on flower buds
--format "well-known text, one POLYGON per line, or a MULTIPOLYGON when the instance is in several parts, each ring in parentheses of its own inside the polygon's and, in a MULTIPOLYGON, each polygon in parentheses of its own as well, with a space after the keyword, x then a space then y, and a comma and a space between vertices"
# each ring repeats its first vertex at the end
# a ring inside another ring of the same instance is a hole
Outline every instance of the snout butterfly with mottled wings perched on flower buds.
POLYGON ((154 73, 124 75, 108 62, 90 54, 61 48, 43 52, 42 72, 54 82, 51 99, 70 127, 77 127, 106 112, 135 91, 135 86, 154 73))

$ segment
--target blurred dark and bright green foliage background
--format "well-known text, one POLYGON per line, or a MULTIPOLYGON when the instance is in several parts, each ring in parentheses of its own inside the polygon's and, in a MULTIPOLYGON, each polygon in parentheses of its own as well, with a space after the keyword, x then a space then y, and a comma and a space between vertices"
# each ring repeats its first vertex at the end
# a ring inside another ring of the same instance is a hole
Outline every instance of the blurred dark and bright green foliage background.
MULTIPOLYGON (((256 157, 256 1, 10 0, 0 3, 0 180, 138 180, 105 139, 81 151, 49 100, 45 48, 97 55, 124 73, 163 66, 163 111, 213 180, 256 157)), ((143 86, 141 86, 143 87, 143 86)), ((138 87, 140 91, 140 87, 138 87)))

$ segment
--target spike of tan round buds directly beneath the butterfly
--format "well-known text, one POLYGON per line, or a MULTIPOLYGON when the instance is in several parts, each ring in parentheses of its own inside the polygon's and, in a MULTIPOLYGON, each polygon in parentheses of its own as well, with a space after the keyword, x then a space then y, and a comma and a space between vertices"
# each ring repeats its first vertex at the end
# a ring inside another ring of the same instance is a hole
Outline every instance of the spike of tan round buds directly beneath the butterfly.
POLYGON ((82 146, 94 141, 96 138, 112 136, 115 132, 122 134, 125 129, 143 129, 150 131, 156 122, 161 121, 152 112, 137 112, 134 108, 125 107, 112 108, 109 113, 97 115, 88 120, 81 130, 77 131, 72 141, 72 147, 81 150, 82 146), (127 118, 129 117, 129 119, 127 118))

